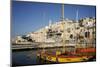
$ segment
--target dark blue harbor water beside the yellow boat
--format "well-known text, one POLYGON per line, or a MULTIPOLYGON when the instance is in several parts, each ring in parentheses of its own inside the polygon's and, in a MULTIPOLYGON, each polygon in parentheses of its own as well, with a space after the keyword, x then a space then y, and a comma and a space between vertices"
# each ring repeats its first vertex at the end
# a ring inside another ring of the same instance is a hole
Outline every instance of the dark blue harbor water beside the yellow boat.
MULTIPOLYGON (((46 51, 56 51, 56 50, 61 50, 61 49, 62 48, 50 48, 50 49, 45 49, 45 50, 46 51)), ((37 53, 42 50, 43 49, 12 51, 12 66, 55 64, 53 62, 41 60, 39 57, 37 57, 37 53)))

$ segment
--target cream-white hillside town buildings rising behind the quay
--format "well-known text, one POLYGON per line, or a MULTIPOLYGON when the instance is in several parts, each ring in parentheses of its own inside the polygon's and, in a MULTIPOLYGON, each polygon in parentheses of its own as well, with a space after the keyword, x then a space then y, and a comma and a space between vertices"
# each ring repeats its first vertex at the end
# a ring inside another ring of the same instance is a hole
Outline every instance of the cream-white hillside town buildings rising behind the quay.
MULTIPOLYGON (((28 33, 26 36, 30 38, 32 42, 62 42, 63 32, 65 32, 66 44, 80 43, 95 43, 95 25, 96 19, 92 17, 82 18, 78 22, 65 19, 63 22, 52 22, 39 30, 28 33), (64 23, 64 31, 62 23, 64 23)), ((28 40, 23 39, 21 36, 17 36, 16 43, 25 42, 28 40)))

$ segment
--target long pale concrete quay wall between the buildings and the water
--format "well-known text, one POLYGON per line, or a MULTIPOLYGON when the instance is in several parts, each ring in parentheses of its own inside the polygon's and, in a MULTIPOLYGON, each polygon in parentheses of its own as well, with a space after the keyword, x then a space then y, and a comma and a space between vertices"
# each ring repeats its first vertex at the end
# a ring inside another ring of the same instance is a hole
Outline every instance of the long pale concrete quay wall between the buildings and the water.
POLYGON ((61 42, 22 42, 22 43, 12 43, 12 49, 17 50, 17 49, 38 49, 38 48, 55 48, 55 47, 95 47, 95 43, 78 43, 75 44, 74 42, 72 43, 65 43, 63 45, 61 42))

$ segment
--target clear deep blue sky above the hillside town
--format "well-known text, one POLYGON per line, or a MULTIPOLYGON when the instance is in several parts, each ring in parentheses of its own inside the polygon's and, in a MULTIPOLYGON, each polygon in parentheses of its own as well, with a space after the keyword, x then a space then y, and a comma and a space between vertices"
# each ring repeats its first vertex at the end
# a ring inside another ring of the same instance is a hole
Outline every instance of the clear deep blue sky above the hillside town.
MULTIPOLYGON (((11 37, 36 31, 49 24, 61 20, 61 4, 42 2, 12 1, 11 5, 11 37)), ((65 18, 76 20, 85 17, 96 17, 96 7, 89 5, 64 5, 65 18)))

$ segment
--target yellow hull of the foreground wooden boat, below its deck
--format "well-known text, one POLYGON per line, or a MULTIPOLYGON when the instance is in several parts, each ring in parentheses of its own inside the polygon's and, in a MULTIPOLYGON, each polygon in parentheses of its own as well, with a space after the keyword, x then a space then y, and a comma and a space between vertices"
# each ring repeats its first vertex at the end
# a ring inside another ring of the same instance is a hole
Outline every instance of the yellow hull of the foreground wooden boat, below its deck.
POLYGON ((41 54, 39 57, 46 61, 65 63, 65 62, 87 61, 92 56, 56 56, 56 55, 41 54))

